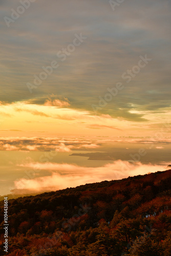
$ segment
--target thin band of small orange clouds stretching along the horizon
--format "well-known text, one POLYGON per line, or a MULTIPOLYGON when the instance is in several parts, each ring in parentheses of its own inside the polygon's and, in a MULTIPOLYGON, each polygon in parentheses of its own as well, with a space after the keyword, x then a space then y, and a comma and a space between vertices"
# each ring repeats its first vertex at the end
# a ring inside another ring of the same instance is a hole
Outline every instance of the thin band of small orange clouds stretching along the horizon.
MULTIPOLYGON (((4 130, 6 131, 20 131, 20 130, 4 130)), ((22 131, 21 131, 22 132, 22 131)), ((136 144, 139 146, 139 144, 142 144, 142 147, 146 145, 145 147, 149 148, 153 145, 156 146, 157 149, 162 149, 163 144, 169 145, 171 143, 170 138, 153 138, 153 137, 118 137, 118 138, 111 138, 104 137, 101 139, 97 138, 47 138, 47 137, 1 137, 0 138, 0 150, 5 151, 7 150, 15 150, 15 151, 58 151, 58 152, 70 152, 71 150, 94 150, 96 148, 99 148, 100 151, 111 151, 111 147, 113 148, 113 143, 122 143, 123 147, 124 145, 127 145, 127 143, 134 144, 134 147, 136 147, 136 144), (6 146, 8 144, 8 146, 6 146), (11 145, 11 147, 9 147, 11 145), (104 148, 103 148, 104 147, 104 148)), ((133 147, 133 148, 134 148, 133 147)), ((113 150, 112 150, 113 151, 113 150)), ((135 150, 134 150, 135 151, 135 150)), ((133 151, 133 153, 134 153, 133 151)), ((92 153, 93 154, 93 153, 92 153)), ((103 153, 100 153, 103 154, 103 153)), ((108 153, 104 153, 107 154, 108 153)), ((115 155, 115 152, 112 153, 113 156, 115 155)), ((122 154, 123 155, 123 154, 122 154)))

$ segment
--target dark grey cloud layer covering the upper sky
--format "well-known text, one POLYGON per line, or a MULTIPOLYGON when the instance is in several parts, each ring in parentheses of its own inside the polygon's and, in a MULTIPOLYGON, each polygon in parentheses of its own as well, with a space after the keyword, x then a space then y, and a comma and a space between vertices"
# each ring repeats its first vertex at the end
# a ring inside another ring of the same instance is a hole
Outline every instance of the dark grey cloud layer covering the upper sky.
MULTIPOLYGON (((2 17, 11 15, 18 1, 1 1, 2 17)), ((2 18, 0 100, 44 104, 47 95, 69 99, 72 108, 92 111, 116 82, 125 88, 99 114, 145 121, 130 113, 170 107, 170 1, 124 1, 113 11, 109 1, 36 1, 7 28, 2 18), (36 26, 35 26, 36 24, 36 26), (56 53, 72 43, 75 33, 87 39, 66 61, 56 53), (122 73, 137 65, 139 56, 152 61, 127 84, 122 73), (26 83, 52 60, 59 61, 30 94, 26 83)))

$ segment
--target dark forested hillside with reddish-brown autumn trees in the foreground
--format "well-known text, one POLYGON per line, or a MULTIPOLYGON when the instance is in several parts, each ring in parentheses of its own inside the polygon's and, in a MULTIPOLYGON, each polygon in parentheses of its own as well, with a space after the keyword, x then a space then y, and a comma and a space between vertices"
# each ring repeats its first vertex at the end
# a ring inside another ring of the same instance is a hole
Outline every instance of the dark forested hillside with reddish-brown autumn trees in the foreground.
POLYGON ((170 256, 171 170, 81 185, 8 202, 0 255, 170 256))

